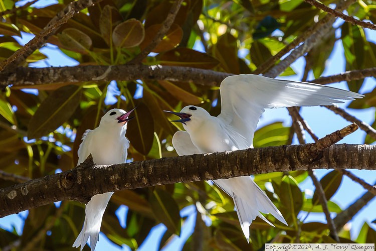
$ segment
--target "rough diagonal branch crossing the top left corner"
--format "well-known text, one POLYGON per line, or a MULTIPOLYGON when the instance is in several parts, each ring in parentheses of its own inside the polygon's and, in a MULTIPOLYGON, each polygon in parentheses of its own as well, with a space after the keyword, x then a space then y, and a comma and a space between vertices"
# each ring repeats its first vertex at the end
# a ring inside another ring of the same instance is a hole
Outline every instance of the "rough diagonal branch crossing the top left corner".
POLYGON ((66 23, 68 19, 72 18, 75 13, 82 11, 102 0, 78 0, 71 2, 67 7, 65 7, 61 12, 59 12, 51 21, 47 24, 45 28, 39 33, 38 36, 33 38, 29 43, 17 50, 11 57, 4 60, 0 64, 0 71, 7 68, 15 68, 26 58, 28 58, 33 52, 41 48, 48 40, 49 37, 54 35, 58 28, 66 23), (11 64, 12 63, 12 64, 11 64), (12 67, 10 67, 12 66, 12 67))

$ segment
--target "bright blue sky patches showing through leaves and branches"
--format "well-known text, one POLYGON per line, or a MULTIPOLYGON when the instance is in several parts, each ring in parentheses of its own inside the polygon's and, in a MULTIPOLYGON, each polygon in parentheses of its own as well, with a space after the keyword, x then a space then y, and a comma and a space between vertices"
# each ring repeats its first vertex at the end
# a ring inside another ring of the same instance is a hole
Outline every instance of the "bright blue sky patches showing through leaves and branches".
MULTIPOLYGON (((25 4, 28 1, 21 1, 21 5, 25 4)), ((40 0, 38 2, 38 7, 51 5, 55 1, 47 1, 47 0, 40 0)), ((335 26, 340 24, 341 21, 337 21, 335 26)), ((366 36, 369 41, 376 43, 376 32, 365 30, 366 36)), ((337 34, 339 36, 339 34, 337 34)), ((32 36, 23 34, 22 43, 28 42, 32 36)), ((200 50, 200 45, 198 44, 197 49, 200 50)), ((78 63, 75 60, 69 59, 65 56, 56 46, 47 45, 41 49, 41 52, 47 55, 49 58, 44 60, 43 62, 38 62, 33 64, 34 67, 46 67, 46 66, 74 66, 78 63)), ((297 73, 296 76, 289 77, 292 80, 300 80, 302 77, 302 71, 304 68, 304 59, 299 58, 293 65, 293 69, 297 73)), ((327 61, 327 65, 325 71, 323 73, 324 76, 337 74, 343 72, 345 69, 345 61, 343 57, 343 47, 341 45, 341 41, 337 41, 334 47, 334 50, 327 61)), ((310 73, 308 76, 308 80, 313 79, 313 75, 310 73)), ((339 88, 346 88, 345 83, 336 83, 332 84, 332 86, 339 87, 339 88)), ((360 90, 360 93, 365 93, 372 90, 376 86, 376 81, 373 78, 367 78, 363 87, 360 90)), ((107 102, 112 102, 111 98, 106 98, 107 102)), ((346 104, 341 105, 341 107, 345 107, 346 104)), ((372 123, 374 119, 375 109, 368 108, 365 110, 355 110, 355 109, 348 109, 348 111, 364 120, 367 123, 372 123)), ((342 119, 340 116, 335 115, 332 111, 324 108, 324 107, 303 107, 301 110, 302 116, 307 120, 309 126, 312 130, 316 133, 318 137, 323 137, 333 131, 341 129, 350 122, 342 119)), ((284 124, 288 126, 291 124, 291 118, 288 115, 287 109, 268 109, 262 115, 258 127, 263 127, 266 124, 274 121, 284 121, 284 124)), ((350 136, 345 137, 339 143, 347 143, 347 144, 362 144, 364 141, 365 133, 361 130, 357 130, 355 133, 351 134, 350 136)), ((313 142, 312 139, 307 135, 307 141, 313 142)), ((293 144, 298 144, 296 139, 294 140, 293 144)), ((323 177, 328 171, 327 170, 316 170, 316 175, 318 178, 323 177)), ((376 181, 376 173, 366 170, 352 170, 356 176, 364 179, 366 182, 373 184, 376 181)), ((314 190, 314 186, 309 178, 307 178, 303 183, 300 184, 301 190, 306 190, 308 193, 309 191, 314 190)), ((336 202, 342 209, 348 207, 350 204, 353 203, 361 194, 363 194, 365 190, 358 185, 357 183, 352 182, 349 178, 344 177, 340 188, 338 189, 337 193, 333 196, 332 200, 336 202)), ((359 231, 361 225, 364 221, 367 221, 368 224, 376 218, 375 212, 376 208, 376 200, 372 200, 365 206, 352 220, 351 220, 351 233, 352 236, 356 236, 357 232, 359 231)), ((120 216, 120 222, 125 224, 125 219, 123 215, 126 215, 127 207, 122 206, 118 210, 118 215, 120 216)), ((185 220, 185 223, 182 226, 182 233, 180 237, 175 237, 171 243, 167 245, 163 250, 180 250, 182 245, 184 244, 185 240, 191 235, 193 232, 193 227, 195 224, 195 217, 196 212, 193 206, 184 208, 180 212, 181 216, 188 216, 185 220)), ((18 232, 22 231, 23 227, 23 218, 25 218, 27 212, 20 213, 19 215, 10 215, 5 218, 0 218, 0 226, 6 229, 12 229, 12 226, 15 226, 18 232)), ((302 218, 305 217, 303 213, 300 215, 302 218)), ((311 213, 306 221, 321 221, 325 222, 325 219, 322 214, 318 213, 311 213)), ((371 224, 375 227, 374 224, 371 224)), ((157 250, 157 245, 155 243, 159 243, 160 238, 162 237, 164 231, 166 230, 165 226, 159 224, 153 228, 150 232, 148 238, 144 243, 141 245, 139 250, 144 251, 153 251, 157 250)), ((123 248, 119 248, 116 245, 113 245, 105 235, 100 235, 100 241, 97 244, 97 250, 105 250, 111 248, 111 250, 128 250, 129 248, 123 246, 123 248)))

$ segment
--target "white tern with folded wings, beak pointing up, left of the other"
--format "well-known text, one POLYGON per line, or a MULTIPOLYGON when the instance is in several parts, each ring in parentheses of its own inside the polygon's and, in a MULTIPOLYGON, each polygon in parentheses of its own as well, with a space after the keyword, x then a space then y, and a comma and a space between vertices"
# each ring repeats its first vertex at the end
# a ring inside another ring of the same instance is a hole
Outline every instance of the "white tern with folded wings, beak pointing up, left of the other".
MULTIPOLYGON (((97 165, 111 165, 125 163, 129 141, 125 138, 128 117, 134 110, 125 112, 122 109, 111 109, 101 118, 99 126, 94 130, 87 130, 78 149, 78 165, 91 154, 97 165)), ((113 192, 97 194, 86 204, 85 221, 82 231, 77 236, 73 247, 84 248, 90 237, 90 248, 93 251, 99 240, 99 231, 104 210, 113 192)))

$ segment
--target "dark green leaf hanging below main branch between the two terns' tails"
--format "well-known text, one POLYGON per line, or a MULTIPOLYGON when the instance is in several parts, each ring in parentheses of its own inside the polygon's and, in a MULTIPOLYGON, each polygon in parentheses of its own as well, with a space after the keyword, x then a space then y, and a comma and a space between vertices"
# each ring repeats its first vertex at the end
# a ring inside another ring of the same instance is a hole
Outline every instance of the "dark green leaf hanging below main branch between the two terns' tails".
POLYGON ((155 217, 162 222, 171 233, 180 235, 181 219, 179 207, 172 196, 165 190, 155 188, 149 198, 155 217))

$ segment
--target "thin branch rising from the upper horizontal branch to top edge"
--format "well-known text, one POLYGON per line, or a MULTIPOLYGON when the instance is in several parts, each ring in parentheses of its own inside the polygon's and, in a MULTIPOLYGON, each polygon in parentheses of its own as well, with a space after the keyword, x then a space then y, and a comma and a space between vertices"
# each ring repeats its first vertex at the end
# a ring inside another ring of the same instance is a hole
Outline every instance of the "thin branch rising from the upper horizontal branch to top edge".
POLYGON ((167 15, 167 18, 164 20, 162 27, 159 29, 158 33, 155 35, 153 40, 149 45, 147 45, 140 54, 138 54, 135 58, 133 58, 129 64, 136 64, 140 63, 149 53, 162 41, 166 32, 171 28, 173 21, 180 9, 181 3, 183 0, 175 0, 171 6, 171 9, 167 15))

